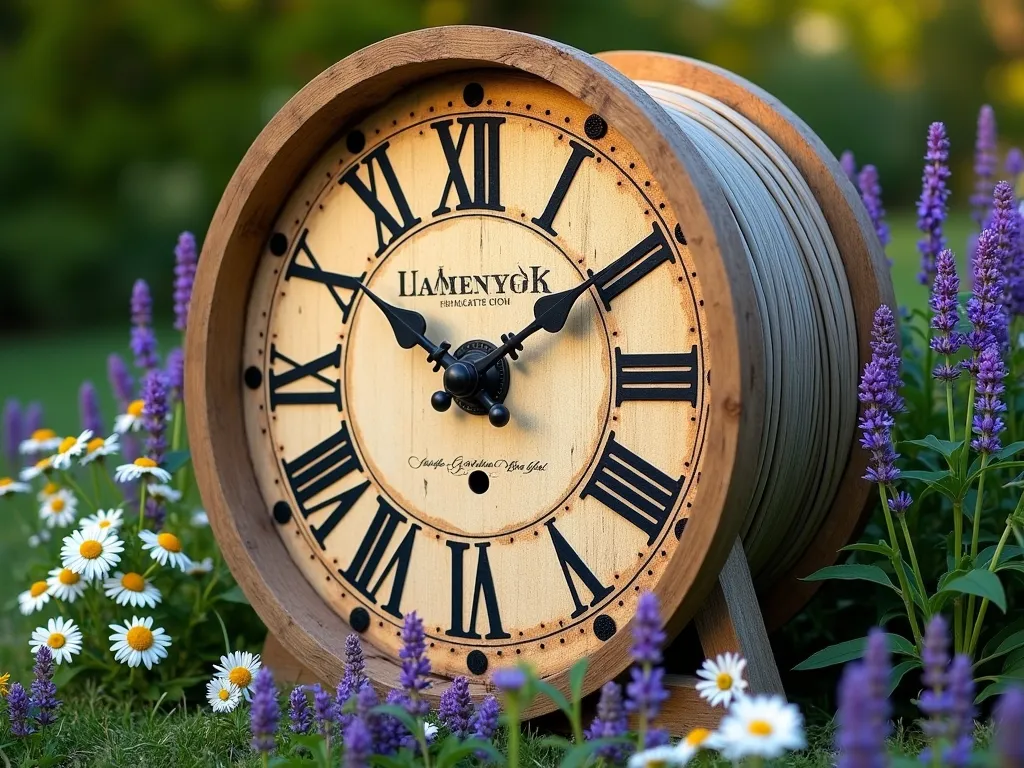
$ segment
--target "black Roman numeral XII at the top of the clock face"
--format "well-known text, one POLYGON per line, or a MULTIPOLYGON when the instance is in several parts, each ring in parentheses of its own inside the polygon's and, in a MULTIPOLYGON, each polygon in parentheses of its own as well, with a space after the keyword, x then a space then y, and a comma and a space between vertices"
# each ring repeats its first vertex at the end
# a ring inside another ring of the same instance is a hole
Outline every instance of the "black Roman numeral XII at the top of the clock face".
POLYGON ((447 207, 447 199, 453 186, 459 196, 459 205, 455 207, 457 211, 472 208, 505 210, 501 202, 501 127, 504 122, 505 118, 459 118, 458 123, 462 128, 459 131, 458 142, 452 139, 451 120, 438 120, 430 124, 430 127, 437 131, 437 138, 440 139, 441 151, 449 165, 444 191, 441 193, 441 202, 437 204, 434 216, 452 211, 447 207), (466 174, 463 173, 460 163, 462 148, 470 133, 473 135, 472 191, 466 183, 466 174))

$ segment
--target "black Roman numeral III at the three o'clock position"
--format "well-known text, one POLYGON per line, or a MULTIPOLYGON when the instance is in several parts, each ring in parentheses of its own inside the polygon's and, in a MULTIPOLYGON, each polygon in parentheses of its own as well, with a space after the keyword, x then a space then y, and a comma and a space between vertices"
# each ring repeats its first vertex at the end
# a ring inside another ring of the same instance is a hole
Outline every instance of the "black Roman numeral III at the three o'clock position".
POLYGON ((623 354, 615 347, 615 404, 686 400, 697 404, 697 348, 679 354, 623 354))

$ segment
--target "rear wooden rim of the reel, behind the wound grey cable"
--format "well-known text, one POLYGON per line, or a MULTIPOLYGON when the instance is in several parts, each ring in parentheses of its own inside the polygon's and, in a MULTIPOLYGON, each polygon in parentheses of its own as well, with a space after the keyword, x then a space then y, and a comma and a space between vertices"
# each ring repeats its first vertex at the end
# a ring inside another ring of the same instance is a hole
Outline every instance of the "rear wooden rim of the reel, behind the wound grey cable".
MULTIPOLYGON (((820 138, 777 98, 754 83, 705 61, 656 51, 597 53, 632 80, 654 80, 695 88, 729 105, 767 133, 803 174, 836 238, 853 299, 858 370, 870 359, 871 323, 880 304, 896 298, 885 252, 867 211, 846 172, 820 138)), ((854 437, 850 457, 827 516, 790 571, 761 595, 768 630, 797 613, 821 586, 800 579, 834 563, 841 547, 859 536, 872 503, 872 485, 862 479, 867 454, 854 437)))

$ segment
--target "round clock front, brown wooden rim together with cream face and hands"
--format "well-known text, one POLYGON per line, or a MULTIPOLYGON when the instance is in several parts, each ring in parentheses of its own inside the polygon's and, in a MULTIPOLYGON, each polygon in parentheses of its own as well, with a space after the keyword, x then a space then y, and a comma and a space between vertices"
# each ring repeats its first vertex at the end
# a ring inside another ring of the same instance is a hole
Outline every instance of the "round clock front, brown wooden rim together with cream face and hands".
POLYGON ((761 329, 739 228, 648 101, 549 41, 423 31, 322 75, 240 166, 193 305, 194 459, 240 584, 323 678, 355 631, 393 682, 416 610, 439 677, 528 660, 564 687, 590 656, 593 690, 641 591, 678 631, 715 588, 761 329))

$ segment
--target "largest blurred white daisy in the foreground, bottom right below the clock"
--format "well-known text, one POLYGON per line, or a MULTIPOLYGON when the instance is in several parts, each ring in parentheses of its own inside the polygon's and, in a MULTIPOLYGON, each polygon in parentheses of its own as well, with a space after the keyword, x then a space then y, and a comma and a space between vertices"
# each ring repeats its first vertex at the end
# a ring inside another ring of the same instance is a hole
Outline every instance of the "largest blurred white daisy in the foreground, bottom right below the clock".
POLYGON ((722 718, 718 734, 722 757, 733 762, 748 756, 777 758, 806 746, 800 710, 781 696, 740 696, 722 718))

